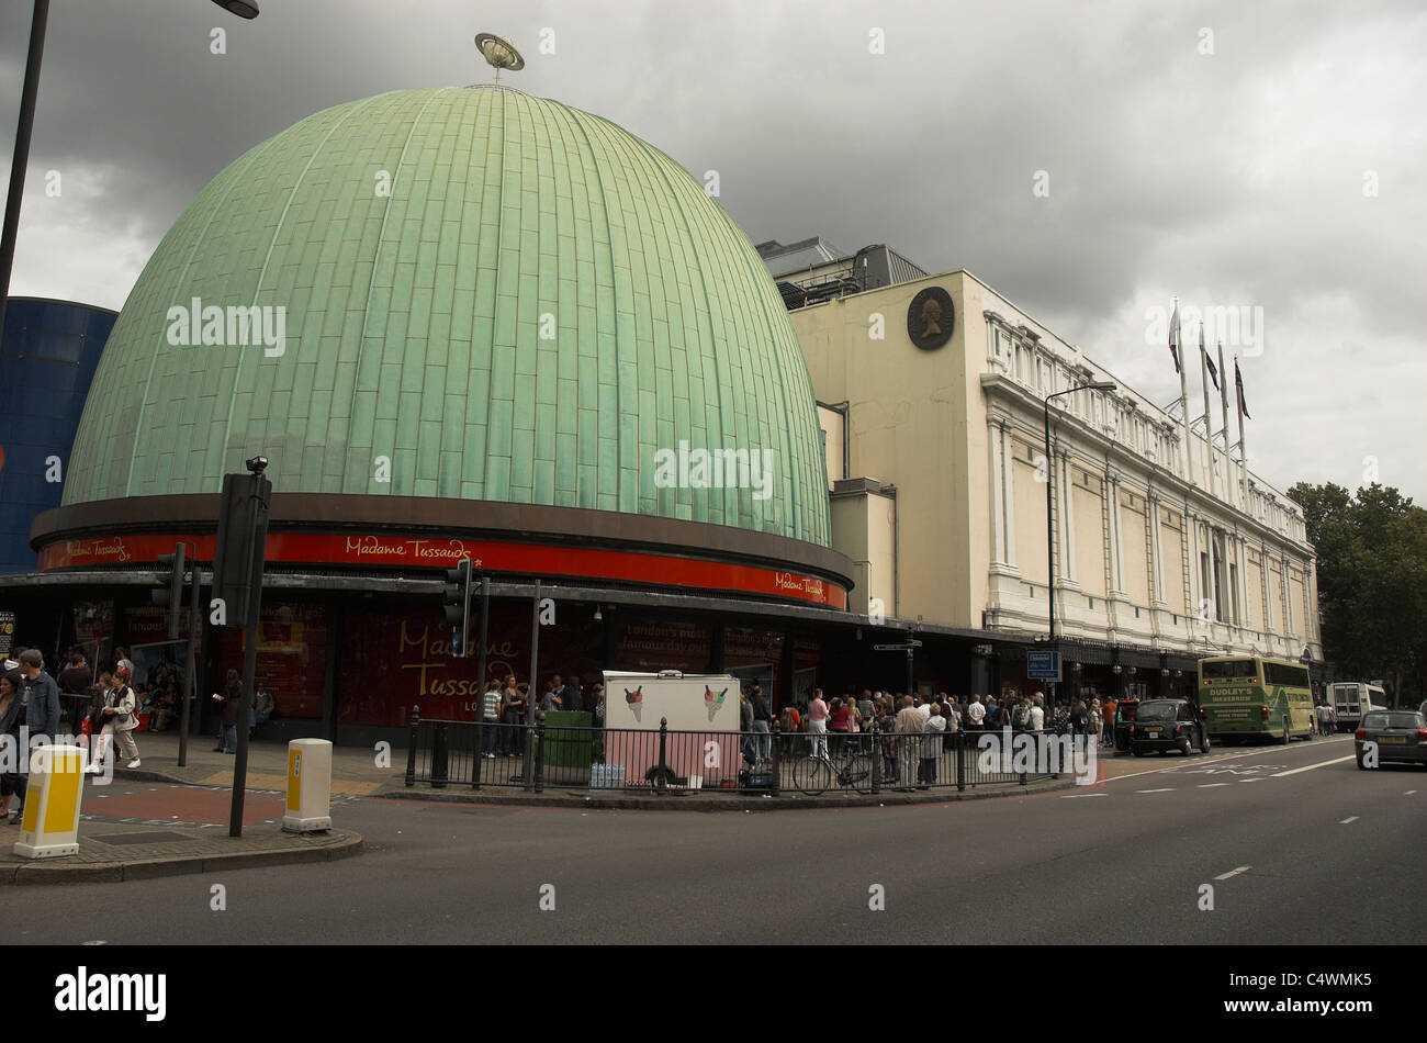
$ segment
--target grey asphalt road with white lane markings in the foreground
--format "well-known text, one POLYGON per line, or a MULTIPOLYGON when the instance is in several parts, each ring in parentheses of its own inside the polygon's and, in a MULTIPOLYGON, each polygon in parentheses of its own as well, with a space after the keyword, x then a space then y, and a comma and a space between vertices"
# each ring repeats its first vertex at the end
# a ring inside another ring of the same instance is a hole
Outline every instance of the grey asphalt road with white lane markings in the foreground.
POLYGON ((1417 943, 1427 772, 1351 753, 1152 756, 1069 793, 916 808, 351 799, 334 819, 367 838, 355 859, 70 885, 59 903, 4 887, 0 942, 1417 943))

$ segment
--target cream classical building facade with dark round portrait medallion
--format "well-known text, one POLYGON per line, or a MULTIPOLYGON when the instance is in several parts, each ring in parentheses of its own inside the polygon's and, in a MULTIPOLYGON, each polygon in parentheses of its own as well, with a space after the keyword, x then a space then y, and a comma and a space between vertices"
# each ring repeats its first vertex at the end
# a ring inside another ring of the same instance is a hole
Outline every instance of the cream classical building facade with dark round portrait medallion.
POLYGON ((1042 404, 1113 381, 1114 392, 1052 404, 1057 632, 1321 661, 1300 508, 1241 475, 1202 432, 1190 435, 1186 474, 1177 418, 970 273, 789 315, 826 407, 833 541, 869 574, 853 611, 868 612, 875 596, 889 619, 1046 634, 1042 404), (956 308, 950 341, 932 351, 908 334, 908 307, 928 285, 956 308), (875 492, 859 478, 875 479, 875 492), (841 502, 858 497, 879 499, 865 509, 841 502))

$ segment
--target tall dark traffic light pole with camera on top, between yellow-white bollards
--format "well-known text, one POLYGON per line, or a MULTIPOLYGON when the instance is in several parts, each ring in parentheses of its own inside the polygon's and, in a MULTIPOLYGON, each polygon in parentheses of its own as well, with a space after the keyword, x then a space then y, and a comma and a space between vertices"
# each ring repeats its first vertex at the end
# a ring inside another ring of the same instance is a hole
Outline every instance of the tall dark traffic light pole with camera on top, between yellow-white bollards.
POLYGON ((267 548, 273 482, 263 477, 267 457, 247 461, 248 475, 223 477, 218 539, 213 555, 213 596, 220 626, 243 625, 243 693, 238 699, 238 755, 233 765, 233 809, 228 836, 243 836, 243 798, 248 778, 248 721, 258 671, 258 612, 263 606, 263 564, 267 548))

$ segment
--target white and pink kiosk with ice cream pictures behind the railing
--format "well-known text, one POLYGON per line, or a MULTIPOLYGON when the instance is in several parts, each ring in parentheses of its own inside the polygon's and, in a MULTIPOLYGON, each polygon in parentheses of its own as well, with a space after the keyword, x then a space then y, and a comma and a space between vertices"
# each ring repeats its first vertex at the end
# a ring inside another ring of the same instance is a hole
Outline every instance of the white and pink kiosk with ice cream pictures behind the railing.
MULTIPOLYGON (((702 786, 736 780, 741 763, 739 679, 732 673, 656 676, 605 671, 605 763, 622 765, 626 786, 646 785, 659 743, 646 732, 668 721, 664 765, 702 786), (726 738, 725 738, 726 736, 726 738)), ((676 785, 686 785, 678 782, 676 785)))

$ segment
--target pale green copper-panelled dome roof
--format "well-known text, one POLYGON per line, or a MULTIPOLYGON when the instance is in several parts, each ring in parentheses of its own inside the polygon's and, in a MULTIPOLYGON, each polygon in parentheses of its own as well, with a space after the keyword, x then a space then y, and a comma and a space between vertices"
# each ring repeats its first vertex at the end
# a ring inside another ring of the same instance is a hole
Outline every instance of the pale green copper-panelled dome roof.
POLYGON ((278 492, 829 542, 812 382, 748 238, 659 150, 509 88, 337 106, 218 174, 114 325, 64 504, 218 492, 258 452, 278 492), (194 300, 283 307, 281 354, 183 342, 194 300), (661 488, 681 441, 771 451, 771 495, 661 488))

